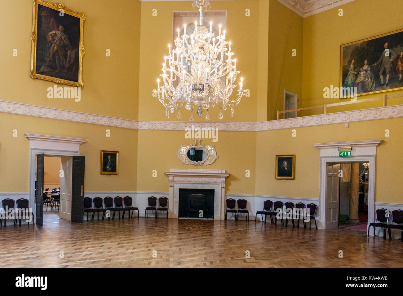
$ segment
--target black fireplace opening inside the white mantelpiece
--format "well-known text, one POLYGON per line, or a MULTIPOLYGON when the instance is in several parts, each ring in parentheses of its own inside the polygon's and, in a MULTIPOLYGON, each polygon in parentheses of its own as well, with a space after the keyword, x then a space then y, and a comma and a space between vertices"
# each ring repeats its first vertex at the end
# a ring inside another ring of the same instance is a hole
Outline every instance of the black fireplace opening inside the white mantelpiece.
POLYGON ((179 218, 214 219, 214 189, 179 189, 179 218))

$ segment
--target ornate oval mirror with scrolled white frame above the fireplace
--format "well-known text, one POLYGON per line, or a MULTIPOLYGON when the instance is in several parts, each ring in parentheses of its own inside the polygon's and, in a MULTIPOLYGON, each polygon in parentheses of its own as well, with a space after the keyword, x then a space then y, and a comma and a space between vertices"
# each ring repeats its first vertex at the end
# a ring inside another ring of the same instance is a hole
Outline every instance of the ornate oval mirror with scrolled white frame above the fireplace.
POLYGON ((189 164, 193 166, 209 165, 212 164, 217 158, 217 151, 214 145, 203 145, 202 139, 195 140, 193 145, 183 145, 178 150, 177 157, 182 161, 182 164, 189 164), (198 145, 196 145, 196 143, 198 145))

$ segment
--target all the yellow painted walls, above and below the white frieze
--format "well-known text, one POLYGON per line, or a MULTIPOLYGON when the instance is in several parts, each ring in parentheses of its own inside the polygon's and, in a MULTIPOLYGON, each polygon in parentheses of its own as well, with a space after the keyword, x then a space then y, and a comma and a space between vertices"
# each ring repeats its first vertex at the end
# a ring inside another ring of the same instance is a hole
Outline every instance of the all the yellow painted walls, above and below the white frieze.
MULTIPOLYGON (((399 0, 391 3, 391 7, 397 6, 399 0)), ((276 0, 212 2, 211 10, 227 11, 227 37, 233 42, 244 87, 251 92, 251 97, 244 97, 235 108, 233 118, 229 110, 224 112, 223 121, 274 119, 276 110, 283 109, 284 89, 298 94, 299 107, 324 103, 323 87, 339 84, 342 42, 400 28, 398 10, 384 12, 378 6, 374 0, 355 0, 341 6, 344 17, 337 16, 337 7, 302 19, 276 0), (245 16, 247 8, 250 17, 245 16), (365 26, 360 22, 364 14, 372 16, 365 26), (296 57, 291 56, 294 48, 296 57)), ((172 12, 191 10, 191 1, 126 0, 111 5, 101 0, 94 5, 91 1, 70 0, 68 7, 87 14, 81 102, 48 99, 46 89, 53 83, 29 77, 32 6, 22 0, 4 2, 0 11, 4 20, 2 33, 9 40, 0 45, 0 54, 10 57, 3 59, 3 67, 12 69, 0 72, 1 99, 120 118, 179 120, 176 114, 165 117, 164 107, 152 97, 152 89, 170 42, 172 12), (157 9, 157 17, 152 16, 153 8, 157 9), (17 23, 15 15, 20 16, 17 23), (18 57, 12 57, 14 48, 18 49, 18 57), (106 48, 111 49, 110 58, 105 56, 106 48)), ((326 103, 333 101, 339 100, 329 99, 326 103)), ((380 106, 380 102, 349 105, 343 110, 368 106, 380 106)), ((189 114, 182 113, 181 121, 187 121, 189 114)), ((310 113, 299 115, 307 114, 310 113)), ((218 121, 216 108, 210 110, 210 117, 218 121)), ((318 197, 320 151, 312 143, 384 139, 377 150, 376 201, 401 203, 396 192, 403 189, 398 180, 403 169, 395 165, 391 170, 390 158, 393 155, 393 164, 403 160, 399 137, 402 125, 402 119, 386 119, 350 123, 350 128, 344 124, 313 126, 297 128, 296 138, 291 137, 290 129, 219 131, 218 142, 202 141, 214 144, 219 155, 212 166, 204 168, 225 169, 231 174, 226 193, 318 197), (390 130, 391 137, 384 137, 385 129, 390 130), (295 180, 274 179, 275 155, 281 154, 296 154, 295 180), (245 170, 250 170, 250 178, 245 177, 245 170)), ((166 192, 168 178, 164 171, 193 168, 181 165, 175 158, 181 143, 192 143, 185 139, 185 131, 137 131, 4 113, 0 113, 0 126, 0 192, 28 191, 29 140, 24 133, 87 139, 80 147, 81 155, 86 157, 86 191, 166 192), (18 130, 17 138, 12 137, 14 129, 18 130), (112 137, 105 137, 106 129, 111 130, 112 137), (120 152, 119 175, 99 174, 101 149, 120 152), (152 177, 152 170, 157 170, 157 178, 152 177)))

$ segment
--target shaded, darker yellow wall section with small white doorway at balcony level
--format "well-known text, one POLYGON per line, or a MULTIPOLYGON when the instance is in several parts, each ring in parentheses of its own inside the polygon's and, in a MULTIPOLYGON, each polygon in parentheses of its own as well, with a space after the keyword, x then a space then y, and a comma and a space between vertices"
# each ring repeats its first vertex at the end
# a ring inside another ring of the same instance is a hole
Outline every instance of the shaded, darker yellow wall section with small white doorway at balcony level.
POLYGON ((297 93, 298 98, 302 95, 303 18, 270 0, 268 20, 267 120, 274 120, 277 110, 284 110, 284 89, 297 93), (297 56, 291 55, 293 49, 297 56))

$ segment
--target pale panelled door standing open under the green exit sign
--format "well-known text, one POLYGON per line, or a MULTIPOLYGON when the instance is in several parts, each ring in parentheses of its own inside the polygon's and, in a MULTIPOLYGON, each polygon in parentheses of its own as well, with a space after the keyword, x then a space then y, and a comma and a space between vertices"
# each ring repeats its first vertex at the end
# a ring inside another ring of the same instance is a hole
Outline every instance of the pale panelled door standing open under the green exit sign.
POLYGON ((339 227, 339 164, 326 164, 325 229, 339 227))

